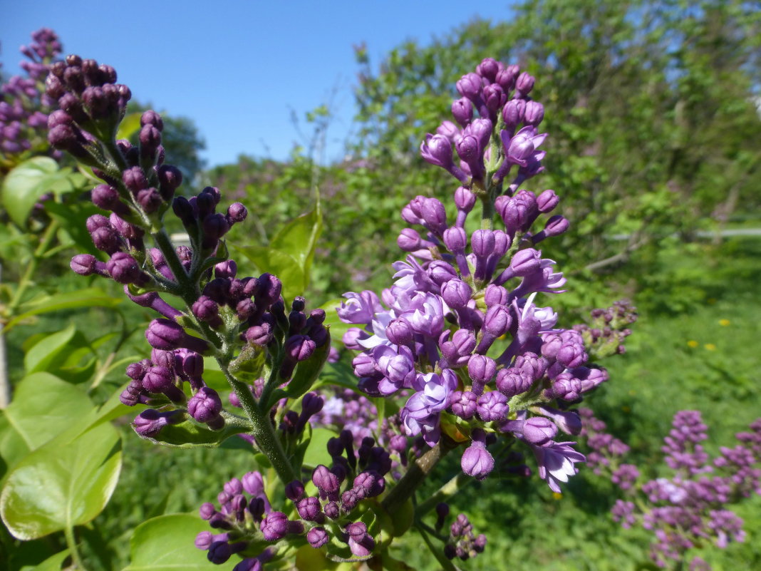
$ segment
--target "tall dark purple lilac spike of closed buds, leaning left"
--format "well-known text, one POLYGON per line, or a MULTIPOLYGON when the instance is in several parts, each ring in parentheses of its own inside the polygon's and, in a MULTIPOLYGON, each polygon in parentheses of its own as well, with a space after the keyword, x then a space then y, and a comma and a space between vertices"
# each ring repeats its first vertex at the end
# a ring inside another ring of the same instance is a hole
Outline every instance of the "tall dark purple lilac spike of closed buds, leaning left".
POLYGON ((213 187, 189 199, 174 196, 182 174, 164 164, 164 123, 158 113, 143 113, 139 145, 113 140, 131 97, 126 85, 116 84, 113 68, 68 56, 50 66, 46 94, 59 105, 49 116, 49 142, 93 167, 103 180, 92 190, 93 203, 110 211, 108 217, 92 215, 87 222, 95 247, 108 260, 79 254, 72 258, 72 270, 123 284, 132 301, 161 315, 145 331, 151 359, 129 365, 131 381, 121 397, 130 406, 161 407, 135 419, 139 435, 156 438, 164 426, 187 416, 209 429, 224 426, 221 398, 202 377, 203 356, 215 356, 231 368, 264 356, 272 392, 293 377, 299 362, 329 346, 324 311, 307 313, 303 297, 294 298, 287 310, 282 283, 269 273, 237 276, 223 238, 246 219, 245 206, 233 203, 218 212, 221 193, 213 187), (163 228, 170 207, 186 229, 190 247, 170 242, 163 228), (146 246, 146 238, 154 247, 146 246), (170 305, 164 295, 180 298, 184 308, 170 305))

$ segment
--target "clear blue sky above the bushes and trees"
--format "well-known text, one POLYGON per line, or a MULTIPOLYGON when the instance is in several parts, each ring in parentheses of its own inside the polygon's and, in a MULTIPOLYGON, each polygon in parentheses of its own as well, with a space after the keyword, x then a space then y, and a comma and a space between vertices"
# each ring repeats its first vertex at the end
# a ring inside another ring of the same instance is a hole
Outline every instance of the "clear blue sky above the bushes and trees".
POLYGON ((428 43, 473 18, 509 17, 510 0, 416 2, 81 2, 16 0, 0 18, 0 61, 18 73, 18 47, 40 27, 59 33, 65 53, 108 63, 136 100, 192 118, 209 165, 240 153, 286 158, 298 134, 291 110, 332 101, 328 159, 349 132, 365 42, 375 65, 404 40, 428 43))

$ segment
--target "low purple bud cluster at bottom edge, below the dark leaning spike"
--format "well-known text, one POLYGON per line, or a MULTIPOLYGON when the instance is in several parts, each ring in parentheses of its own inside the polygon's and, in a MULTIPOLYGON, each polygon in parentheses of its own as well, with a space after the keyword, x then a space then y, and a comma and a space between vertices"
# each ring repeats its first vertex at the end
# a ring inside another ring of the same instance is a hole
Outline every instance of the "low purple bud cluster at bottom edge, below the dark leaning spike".
POLYGON ((348 430, 330 439, 327 451, 333 459, 332 466, 320 464, 310 480, 287 483, 285 497, 291 506, 284 512, 272 509, 259 472, 225 483, 217 497, 219 509, 209 502, 200 508, 201 518, 222 533, 202 531, 196 538, 196 547, 209 550, 212 563, 225 563, 233 553, 258 553, 256 557, 245 557, 234 571, 260 569, 278 553, 281 544, 288 544, 288 536, 298 536, 302 542, 306 539, 315 549, 334 538, 338 544, 333 541, 328 545, 334 557, 370 557, 377 525, 355 521, 355 516, 361 502, 384 492, 384 475, 391 461, 388 452, 375 445, 373 439, 363 439, 358 448, 354 441, 355 436, 348 430))

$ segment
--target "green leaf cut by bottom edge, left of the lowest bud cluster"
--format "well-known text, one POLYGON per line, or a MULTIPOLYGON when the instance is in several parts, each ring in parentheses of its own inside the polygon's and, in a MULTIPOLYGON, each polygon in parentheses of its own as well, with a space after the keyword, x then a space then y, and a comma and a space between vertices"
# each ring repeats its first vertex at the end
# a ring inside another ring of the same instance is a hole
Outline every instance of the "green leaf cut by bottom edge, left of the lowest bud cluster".
POLYGON ((209 524, 195 514, 159 515, 137 528, 129 540, 131 563, 123 571, 218 571, 193 541, 209 524))

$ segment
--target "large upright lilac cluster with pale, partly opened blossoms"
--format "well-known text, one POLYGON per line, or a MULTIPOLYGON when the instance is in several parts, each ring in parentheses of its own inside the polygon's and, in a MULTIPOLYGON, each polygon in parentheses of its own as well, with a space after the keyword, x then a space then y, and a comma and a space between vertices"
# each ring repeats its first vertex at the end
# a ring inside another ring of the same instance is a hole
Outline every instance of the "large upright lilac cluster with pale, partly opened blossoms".
POLYGON ((344 337, 361 351, 353 361, 359 388, 384 397, 412 392, 400 413, 408 435, 422 435, 430 446, 442 432, 468 436, 462 467, 478 478, 495 465, 485 434, 514 436, 530 445, 540 477, 559 491, 584 457, 573 442, 555 440, 558 429, 574 433, 575 413, 546 405, 559 401, 564 409, 607 373, 585 366, 581 333, 556 327, 556 312, 535 304, 541 293, 563 291, 565 278, 536 246, 565 232, 568 221, 549 216, 559 203, 552 190, 518 190, 543 171, 546 133, 537 126, 544 112, 529 97, 533 83, 516 65, 493 59, 457 82, 457 123, 444 121, 421 145, 426 161, 461 184, 454 222, 438 199, 412 199, 402 218, 422 232, 401 232, 397 243, 409 255, 393 264, 394 284, 380 298, 349 292, 337 311, 359 326, 344 337), (471 231, 477 200, 482 219, 471 231), (493 228, 495 214, 500 228, 493 228), (532 231, 543 215, 543 228, 532 231))

